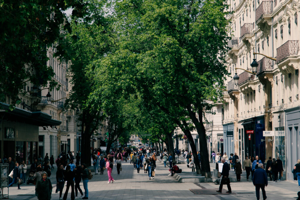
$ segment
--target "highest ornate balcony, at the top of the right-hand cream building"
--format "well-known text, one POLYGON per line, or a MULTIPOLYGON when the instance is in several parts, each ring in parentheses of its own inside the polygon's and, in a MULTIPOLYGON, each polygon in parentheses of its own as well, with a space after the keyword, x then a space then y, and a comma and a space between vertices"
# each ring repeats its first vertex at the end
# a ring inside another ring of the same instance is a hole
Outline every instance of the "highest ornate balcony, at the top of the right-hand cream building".
POLYGON ((264 32, 265 35, 268 35, 271 29, 272 12, 273 12, 272 1, 262 2, 255 10, 256 25, 262 30, 262 32, 264 32))

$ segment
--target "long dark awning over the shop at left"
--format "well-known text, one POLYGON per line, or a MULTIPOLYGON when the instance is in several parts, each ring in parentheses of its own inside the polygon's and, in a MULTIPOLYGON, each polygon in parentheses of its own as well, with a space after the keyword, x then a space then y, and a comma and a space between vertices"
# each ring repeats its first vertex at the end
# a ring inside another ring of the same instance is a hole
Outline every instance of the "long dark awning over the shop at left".
POLYGON ((5 111, 0 112, 1 118, 9 121, 18 121, 26 124, 32 124, 36 126, 58 126, 61 121, 51 119, 51 115, 43 113, 41 111, 30 112, 21 108, 15 108, 10 111, 9 105, 0 102, 0 109, 5 111))

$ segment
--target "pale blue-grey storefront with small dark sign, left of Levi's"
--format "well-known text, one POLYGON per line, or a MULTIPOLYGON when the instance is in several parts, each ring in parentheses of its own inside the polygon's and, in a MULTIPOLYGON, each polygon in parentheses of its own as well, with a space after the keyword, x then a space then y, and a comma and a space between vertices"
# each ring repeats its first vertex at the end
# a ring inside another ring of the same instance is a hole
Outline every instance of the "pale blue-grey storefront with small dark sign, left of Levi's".
MULTIPOLYGON (((234 123, 223 124, 223 150, 227 155, 235 153, 234 148, 234 123)), ((229 156, 228 156, 229 157, 229 156)))

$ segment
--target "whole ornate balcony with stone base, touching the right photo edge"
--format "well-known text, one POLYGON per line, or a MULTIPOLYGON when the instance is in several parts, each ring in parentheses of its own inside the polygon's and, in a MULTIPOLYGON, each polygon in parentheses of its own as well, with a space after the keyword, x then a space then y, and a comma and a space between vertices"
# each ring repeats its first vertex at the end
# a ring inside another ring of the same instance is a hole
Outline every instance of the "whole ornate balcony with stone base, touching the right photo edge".
POLYGON ((283 74, 299 68, 299 41, 289 40, 277 48, 277 66, 283 74))

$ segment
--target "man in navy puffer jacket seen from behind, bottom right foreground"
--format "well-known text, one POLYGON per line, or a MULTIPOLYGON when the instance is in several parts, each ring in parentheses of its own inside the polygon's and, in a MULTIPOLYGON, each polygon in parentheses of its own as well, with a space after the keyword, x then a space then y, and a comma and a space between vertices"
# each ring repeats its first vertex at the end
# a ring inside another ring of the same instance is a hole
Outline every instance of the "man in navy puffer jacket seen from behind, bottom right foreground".
POLYGON ((265 200, 267 198, 265 195, 265 186, 268 186, 268 176, 263 169, 262 163, 259 163, 258 169, 254 171, 252 181, 256 190, 256 198, 259 199, 259 189, 262 189, 262 198, 265 200))

